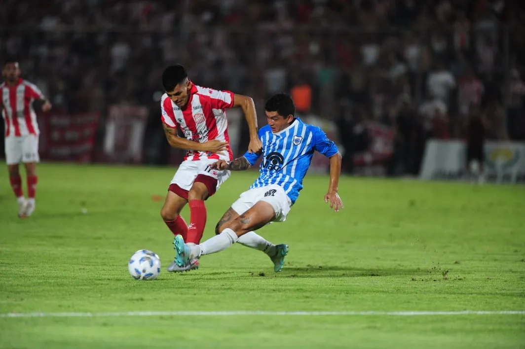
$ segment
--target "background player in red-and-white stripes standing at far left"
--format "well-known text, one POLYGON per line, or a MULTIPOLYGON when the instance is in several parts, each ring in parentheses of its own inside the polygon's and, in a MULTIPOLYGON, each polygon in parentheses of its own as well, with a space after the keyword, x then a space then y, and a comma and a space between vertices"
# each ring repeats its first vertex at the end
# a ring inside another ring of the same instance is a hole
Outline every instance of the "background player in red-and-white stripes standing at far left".
POLYGON ((30 216, 35 210, 38 177, 38 123, 33 109, 35 100, 43 101, 42 110, 49 111, 51 103, 29 81, 20 78, 20 68, 14 59, 5 61, 2 69, 5 82, 0 84, 0 110, 5 122, 5 157, 9 182, 18 202, 18 217, 30 216), (27 175, 27 199, 22 190, 18 164, 23 162, 27 175))

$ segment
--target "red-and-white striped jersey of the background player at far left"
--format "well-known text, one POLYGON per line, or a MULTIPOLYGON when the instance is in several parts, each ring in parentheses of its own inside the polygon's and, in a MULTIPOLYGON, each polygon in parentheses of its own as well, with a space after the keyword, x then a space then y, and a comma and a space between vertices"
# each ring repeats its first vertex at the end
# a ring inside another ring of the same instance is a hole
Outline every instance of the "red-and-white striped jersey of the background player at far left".
POLYGON ((0 84, 0 96, 6 137, 39 134, 33 101, 45 97, 33 83, 18 79, 16 85, 10 87, 4 82, 0 84))

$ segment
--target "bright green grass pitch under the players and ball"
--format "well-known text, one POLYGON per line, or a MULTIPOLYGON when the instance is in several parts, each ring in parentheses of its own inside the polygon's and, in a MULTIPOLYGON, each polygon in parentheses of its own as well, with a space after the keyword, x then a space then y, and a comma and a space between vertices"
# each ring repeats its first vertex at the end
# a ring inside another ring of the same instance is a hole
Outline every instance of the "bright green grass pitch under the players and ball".
MULTIPOLYGON (((525 310, 523 186, 343 177, 334 213, 323 201, 328 177, 310 174, 288 220, 259 230, 290 246, 282 272, 239 245, 172 274, 173 238, 152 196, 164 197, 175 168, 38 171, 25 220, 0 172, 0 348, 525 348, 523 313, 434 313, 525 310), (159 279, 129 276, 142 248, 160 255, 159 279), (141 311, 429 313, 4 315, 141 311)), ((256 176, 233 173, 206 202, 204 238, 256 176)))

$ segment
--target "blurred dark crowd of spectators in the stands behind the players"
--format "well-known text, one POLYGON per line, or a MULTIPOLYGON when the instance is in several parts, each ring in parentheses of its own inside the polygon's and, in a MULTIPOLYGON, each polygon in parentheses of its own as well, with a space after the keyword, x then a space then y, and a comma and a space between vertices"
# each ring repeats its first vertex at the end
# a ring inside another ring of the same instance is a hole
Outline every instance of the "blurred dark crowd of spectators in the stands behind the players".
MULTIPOLYGON (((288 91, 302 114, 395 130, 395 165, 416 174, 428 138, 525 140, 525 5, 503 0, 4 0, 2 57, 56 108, 127 101, 159 130, 160 75, 181 62, 197 84, 264 100, 288 91), (475 136, 475 135, 474 135, 475 136)), ((150 132, 149 131, 149 132, 150 132)), ((153 131, 151 131, 153 132, 153 131)), ((245 140, 246 142, 246 140, 245 140)), ((393 166, 396 167, 396 166, 393 166)))

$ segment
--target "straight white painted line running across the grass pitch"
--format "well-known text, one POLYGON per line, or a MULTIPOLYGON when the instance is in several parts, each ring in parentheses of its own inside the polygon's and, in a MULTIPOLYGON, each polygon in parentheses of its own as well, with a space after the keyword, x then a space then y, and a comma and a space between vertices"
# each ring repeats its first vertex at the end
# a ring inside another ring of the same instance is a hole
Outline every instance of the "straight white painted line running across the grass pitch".
POLYGON ((502 311, 138 311, 114 313, 4 313, 0 318, 95 318, 104 316, 439 316, 525 315, 525 310, 502 311))

